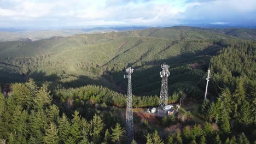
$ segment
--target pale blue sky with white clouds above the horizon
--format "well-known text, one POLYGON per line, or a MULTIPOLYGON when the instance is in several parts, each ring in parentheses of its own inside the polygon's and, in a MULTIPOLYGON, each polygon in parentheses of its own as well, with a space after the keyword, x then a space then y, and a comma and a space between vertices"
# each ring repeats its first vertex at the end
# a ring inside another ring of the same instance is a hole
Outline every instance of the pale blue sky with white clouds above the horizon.
POLYGON ((0 27, 256 25, 255 0, 1 0, 0 27))

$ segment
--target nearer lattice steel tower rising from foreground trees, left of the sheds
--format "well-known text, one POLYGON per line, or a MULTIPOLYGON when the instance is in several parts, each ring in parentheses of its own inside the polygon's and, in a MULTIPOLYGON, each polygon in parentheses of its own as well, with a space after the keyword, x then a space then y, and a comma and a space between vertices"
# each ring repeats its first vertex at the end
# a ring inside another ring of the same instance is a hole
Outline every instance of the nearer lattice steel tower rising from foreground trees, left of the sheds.
POLYGON ((124 75, 124 78, 128 78, 125 135, 129 139, 129 141, 133 140, 133 114, 132 114, 132 91, 131 91, 132 72, 133 72, 133 69, 129 67, 126 69, 126 73, 128 73, 128 75, 124 75))

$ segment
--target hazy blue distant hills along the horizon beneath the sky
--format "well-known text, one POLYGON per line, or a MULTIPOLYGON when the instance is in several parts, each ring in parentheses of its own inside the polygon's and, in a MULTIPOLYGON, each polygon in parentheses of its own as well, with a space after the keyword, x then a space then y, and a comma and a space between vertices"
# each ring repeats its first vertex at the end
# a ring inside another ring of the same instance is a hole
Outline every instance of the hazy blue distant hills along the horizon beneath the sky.
MULTIPOLYGON (((172 29, 194 29, 194 30, 207 30, 211 32, 218 32, 234 37, 255 40, 256 29, 248 28, 231 28, 231 26, 224 25, 204 25, 205 27, 190 27, 190 26, 172 26, 163 27, 172 29)), ((147 28, 161 27, 147 27, 147 26, 122 26, 122 27, 94 27, 94 28, 77 28, 77 29, 60 29, 60 30, 27 30, 16 28, 0 28, 0 42, 3 41, 36 41, 40 39, 49 39, 51 37, 69 37, 75 34, 97 34, 108 32, 122 32, 132 31, 147 28)))

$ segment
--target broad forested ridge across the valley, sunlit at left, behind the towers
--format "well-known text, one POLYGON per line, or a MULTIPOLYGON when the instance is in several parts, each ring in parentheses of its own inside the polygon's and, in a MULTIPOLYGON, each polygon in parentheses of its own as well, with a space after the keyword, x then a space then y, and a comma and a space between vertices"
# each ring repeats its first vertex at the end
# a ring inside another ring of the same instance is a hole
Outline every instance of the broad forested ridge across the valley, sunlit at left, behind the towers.
POLYGON ((131 66, 135 68, 133 92, 152 95, 159 94, 160 64, 165 62, 173 73, 169 78, 171 93, 183 88, 189 92, 195 91, 193 85, 205 74, 210 58, 235 41, 242 40, 213 29, 194 27, 80 34, 34 42, 7 41, 0 43, 0 76, 1 82, 9 82, 12 77, 12 82, 32 77, 55 86, 94 83, 124 92, 126 83, 121 77, 125 68, 131 66), (193 76, 186 77, 187 74, 193 76))

